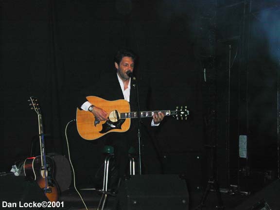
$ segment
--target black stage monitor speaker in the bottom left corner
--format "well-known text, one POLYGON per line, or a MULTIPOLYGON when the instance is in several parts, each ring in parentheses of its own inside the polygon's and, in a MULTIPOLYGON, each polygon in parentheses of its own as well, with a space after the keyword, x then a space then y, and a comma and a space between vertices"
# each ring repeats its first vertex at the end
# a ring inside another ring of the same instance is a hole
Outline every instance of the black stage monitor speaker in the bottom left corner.
MULTIPOLYGON (((24 203, 48 202, 48 198, 35 181, 26 180, 25 176, 8 175, 0 177, 0 209, 38 210, 38 207, 20 207, 24 203), (20 202, 20 203, 19 203, 20 202), (8 205, 13 207, 8 208, 8 205)), ((47 208, 53 209, 53 208, 47 208)))

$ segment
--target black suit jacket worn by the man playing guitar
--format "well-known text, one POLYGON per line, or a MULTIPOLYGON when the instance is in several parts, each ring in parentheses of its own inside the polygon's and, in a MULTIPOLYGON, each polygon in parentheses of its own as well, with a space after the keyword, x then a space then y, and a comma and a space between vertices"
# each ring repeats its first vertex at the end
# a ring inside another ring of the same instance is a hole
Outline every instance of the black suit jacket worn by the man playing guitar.
MULTIPOLYGON (((124 99, 123 92, 118 81, 117 72, 112 71, 112 73, 104 74, 98 81, 93 80, 92 85, 82 91, 81 98, 79 99, 79 107, 86 102, 87 96, 98 96, 108 101, 115 101, 119 99, 124 99)), ((130 110, 137 111, 137 97, 136 90, 134 88, 136 82, 131 79, 131 89, 130 89, 130 110)), ((140 111, 146 111, 148 108, 147 102, 149 97, 149 85, 144 81, 138 81, 139 86, 139 98, 140 98, 140 111)), ((137 87, 137 86, 136 86, 137 87)), ((100 107, 102 108, 102 107, 100 107)), ((144 123, 144 127, 150 127, 152 119, 141 119, 144 123)), ((99 140, 104 141, 105 144, 113 144, 125 142, 129 146, 133 145, 137 147, 138 143, 138 120, 131 119, 131 125, 127 132, 124 133, 108 133, 101 137, 99 140)), ((145 139, 148 137, 145 137, 145 139)), ((121 143, 122 144, 122 143, 121 143)))

